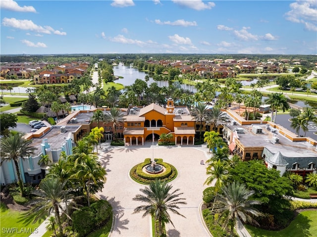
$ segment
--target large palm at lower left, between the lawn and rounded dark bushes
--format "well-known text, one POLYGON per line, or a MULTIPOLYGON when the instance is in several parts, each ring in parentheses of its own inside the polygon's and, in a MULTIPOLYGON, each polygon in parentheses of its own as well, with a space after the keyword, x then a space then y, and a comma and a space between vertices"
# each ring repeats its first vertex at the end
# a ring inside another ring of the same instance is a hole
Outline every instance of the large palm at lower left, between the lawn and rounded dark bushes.
POLYGON ((69 192, 71 191, 70 189, 64 190, 65 184, 66 181, 61 183, 57 177, 53 176, 43 179, 40 183, 40 190, 33 192, 38 197, 31 202, 33 207, 30 210, 30 213, 36 212, 38 217, 45 212, 48 212, 50 215, 53 211, 61 235, 63 235, 60 219, 60 211, 63 212, 61 203, 65 197, 69 198, 69 192))

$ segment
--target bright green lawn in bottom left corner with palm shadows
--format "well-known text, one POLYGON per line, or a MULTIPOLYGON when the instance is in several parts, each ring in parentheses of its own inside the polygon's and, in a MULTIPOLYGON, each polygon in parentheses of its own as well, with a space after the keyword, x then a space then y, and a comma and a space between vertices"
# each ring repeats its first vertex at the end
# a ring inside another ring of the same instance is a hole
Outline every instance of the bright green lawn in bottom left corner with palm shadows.
POLYGON ((45 217, 33 223, 35 216, 26 216, 26 211, 13 211, 0 203, 1 237, 28 237, 45 220, 45 217), (11 233, 10 233, 11 232, 11 233))

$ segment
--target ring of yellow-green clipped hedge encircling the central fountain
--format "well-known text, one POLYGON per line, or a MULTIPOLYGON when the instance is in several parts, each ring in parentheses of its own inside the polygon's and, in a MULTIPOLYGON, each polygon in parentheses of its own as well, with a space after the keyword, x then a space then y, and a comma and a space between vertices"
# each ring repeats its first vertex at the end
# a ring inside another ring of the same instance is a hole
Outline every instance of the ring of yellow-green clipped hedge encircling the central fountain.
POLYGON ((156 163, 164 166, 165 172, 160 174, 147 174, 142 171, 143 167, 151 164, 151 158, 146 158, 143 163, 137 164, 130 170, 130 176, 144 184, 150 184, 155 179, 159 179, 163 182, 169 182, 176 178, 177 170, 171 164, 163 162, 163 159, 155 159, 156 163))

